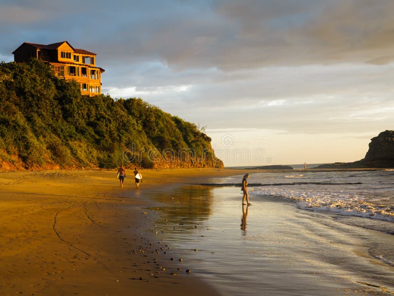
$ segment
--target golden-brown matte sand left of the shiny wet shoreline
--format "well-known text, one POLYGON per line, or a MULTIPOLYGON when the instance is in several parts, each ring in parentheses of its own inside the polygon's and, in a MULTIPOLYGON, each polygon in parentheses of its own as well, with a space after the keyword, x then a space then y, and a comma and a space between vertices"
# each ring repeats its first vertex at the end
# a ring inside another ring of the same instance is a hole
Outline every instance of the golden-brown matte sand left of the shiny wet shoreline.
POLYGON ((1 295, 217 295, 156 239, 150 190, 214 169, 0 173, 1 295), (164 254, 165 253, 165 254, 164 254), (181 270, 178 270, 181 268, 181 270))

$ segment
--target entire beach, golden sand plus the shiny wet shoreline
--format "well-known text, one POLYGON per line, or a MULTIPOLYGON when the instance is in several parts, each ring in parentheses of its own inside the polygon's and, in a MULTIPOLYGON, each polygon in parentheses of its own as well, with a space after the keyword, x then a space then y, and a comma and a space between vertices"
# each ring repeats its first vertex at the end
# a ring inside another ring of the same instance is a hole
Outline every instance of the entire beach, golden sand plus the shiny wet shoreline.
POLYGON ((138 190, 127 173, 0 173, 0 294, 394 294, 393 235, 199 185, 244 170, 142 170, 138 190))

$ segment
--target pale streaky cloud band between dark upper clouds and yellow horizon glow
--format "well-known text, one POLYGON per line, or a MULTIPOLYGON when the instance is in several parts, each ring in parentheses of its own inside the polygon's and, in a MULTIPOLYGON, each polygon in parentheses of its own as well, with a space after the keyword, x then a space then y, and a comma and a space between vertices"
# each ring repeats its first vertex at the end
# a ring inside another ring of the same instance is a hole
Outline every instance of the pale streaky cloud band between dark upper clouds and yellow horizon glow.
POLYGON ((145 98, 209 130, 266 128, 309 134, 361 132, 366 127, 384 130, 393 117, 393 70, 394 64, 261 69, 253 72, 255 76, 233 77, 226 87, 213 81, 193 85, 189 92, 145 98))

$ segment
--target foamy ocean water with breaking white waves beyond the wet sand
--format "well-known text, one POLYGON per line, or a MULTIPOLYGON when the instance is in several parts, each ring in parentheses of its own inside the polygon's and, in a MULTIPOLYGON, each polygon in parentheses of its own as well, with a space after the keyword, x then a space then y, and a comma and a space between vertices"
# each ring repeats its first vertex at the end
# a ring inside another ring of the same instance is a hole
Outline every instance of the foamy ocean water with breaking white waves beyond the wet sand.
MULTIPOLYGON (((239 182, 239 176, 222 180, 239 182)), ((394 170, 252 174, 250 195, 294 201, 298 208, 394 222, 394 170), (271 185, 272 184, 272 185, 271 185), (279 185, 275 185, 279 184, 279 185)), ((393 223, 365 221, 365 227, 394 233, 393 223), (387 226, 389 225, 389 226, 387 226)))

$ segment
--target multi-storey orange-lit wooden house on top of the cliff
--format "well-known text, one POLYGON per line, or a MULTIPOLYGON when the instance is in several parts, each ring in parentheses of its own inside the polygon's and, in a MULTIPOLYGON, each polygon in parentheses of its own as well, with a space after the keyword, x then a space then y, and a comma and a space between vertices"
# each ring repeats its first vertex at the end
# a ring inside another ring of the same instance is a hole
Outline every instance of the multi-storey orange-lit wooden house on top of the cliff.
POLYGON ((63 41, 47 45, 24 42, 13 54, 15 62, 28 62, 31 58, 48 62, 57 77, 79 82, 83 95, 101 94, 104 69, 96 66, 96 53, 63 41))

